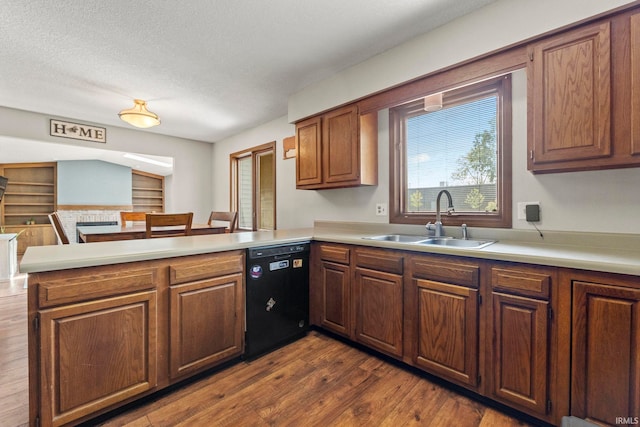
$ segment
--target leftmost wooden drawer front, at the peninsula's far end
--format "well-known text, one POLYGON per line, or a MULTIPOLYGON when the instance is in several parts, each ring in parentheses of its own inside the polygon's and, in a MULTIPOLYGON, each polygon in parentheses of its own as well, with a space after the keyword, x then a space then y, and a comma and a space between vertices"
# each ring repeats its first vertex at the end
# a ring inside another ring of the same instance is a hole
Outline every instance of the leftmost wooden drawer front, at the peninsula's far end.
POLYGON ((95 273, 38 283, 39 307, 133 293, 157 286, 157 269, 95 273))

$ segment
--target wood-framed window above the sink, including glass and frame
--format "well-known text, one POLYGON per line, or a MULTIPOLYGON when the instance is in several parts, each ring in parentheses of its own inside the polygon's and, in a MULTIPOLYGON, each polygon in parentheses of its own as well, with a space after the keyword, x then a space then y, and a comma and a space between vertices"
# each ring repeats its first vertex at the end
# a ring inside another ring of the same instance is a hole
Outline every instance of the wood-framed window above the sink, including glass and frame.
POLYGON ((510 227, 511 75, 446 83, 458 88, 441 92, 440 109, 425 98, 390 109, 390 222, 433 222, 448 190, 445 225, 510 227))

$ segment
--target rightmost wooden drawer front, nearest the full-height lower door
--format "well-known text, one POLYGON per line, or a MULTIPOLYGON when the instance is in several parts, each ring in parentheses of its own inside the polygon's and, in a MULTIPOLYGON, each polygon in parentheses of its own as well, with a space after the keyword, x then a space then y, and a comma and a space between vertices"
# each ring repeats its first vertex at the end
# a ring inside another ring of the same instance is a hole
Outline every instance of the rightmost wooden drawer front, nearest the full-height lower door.
POLYGON ((496 291, 548 299, 550 285, 551 273, 534 268, 491 269, 491 286, 496 291))

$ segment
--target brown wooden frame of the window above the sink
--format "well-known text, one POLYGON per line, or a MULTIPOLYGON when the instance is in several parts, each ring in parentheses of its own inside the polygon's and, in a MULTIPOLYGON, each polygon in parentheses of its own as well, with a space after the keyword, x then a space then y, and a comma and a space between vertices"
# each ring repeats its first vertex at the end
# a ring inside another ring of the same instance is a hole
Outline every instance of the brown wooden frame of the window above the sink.
MULTIPOLYGON (((452 82, 450 82, 452 83, 452 82)), ((453 87, 455 84, 448 84, 453 87)), ((437 91, 434 91, 437 92, 437 91)), ((434 93, 432 92, 432 93, 434 93)), ((469 227, 510 228, 512 226, 512 109, 511 109, 511 74, 504 74, 482 80, 464 87, 444 92, 443 105, 459 105, 470 99, 478 98, 486 93, 498 94, 498 111, 496 114, 497 130, 497 194, 499 210, 487 212, 453 212, 443 209, 443 224, 469 227)), ((424 113, 424 96, 411 102, 389 109, 389 222, 394 224, 426 224, 434 222, 435 212, 405 212, 406 195, 406 120, 424 113)), ((462 153, 461 153, 462 154, 462 153)))

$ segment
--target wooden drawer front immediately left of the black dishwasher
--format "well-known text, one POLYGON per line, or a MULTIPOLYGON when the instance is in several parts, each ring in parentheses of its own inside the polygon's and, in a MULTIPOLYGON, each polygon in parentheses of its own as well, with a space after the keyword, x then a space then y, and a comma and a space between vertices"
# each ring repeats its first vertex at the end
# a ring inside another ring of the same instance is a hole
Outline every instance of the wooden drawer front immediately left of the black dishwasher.
POLYGON ((244 271, 244 252, 232 252, 205 256, 198 261, 176 262, 169 265, 169 284, 193 282, 194 280, 244 271))

